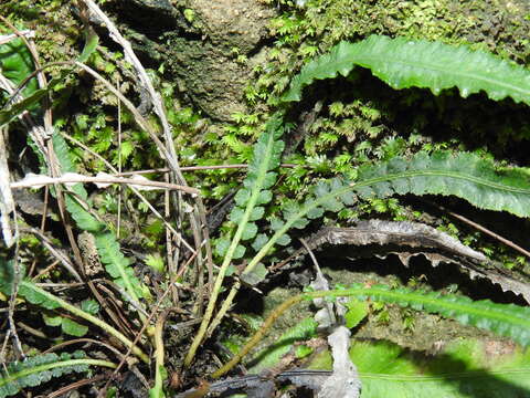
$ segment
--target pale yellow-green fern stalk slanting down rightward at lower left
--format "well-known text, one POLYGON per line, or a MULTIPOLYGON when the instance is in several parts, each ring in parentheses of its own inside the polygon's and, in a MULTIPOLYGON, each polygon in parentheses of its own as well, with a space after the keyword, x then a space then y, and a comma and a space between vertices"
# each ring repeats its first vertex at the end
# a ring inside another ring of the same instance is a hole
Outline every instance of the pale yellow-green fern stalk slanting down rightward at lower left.
POLYGON ((113 335, 114 337, 119 339, 121 343, 124 343, 124 345, 126 347, 130 348, 131 352, 135 355, 137 355, 141 360, 144 360, 146 364, 149 364, 149 357, 140 348, 138 348, 136 345, 134 345, 131 341, 129 341, 125 335, 123 335, 120 332, 116 331, 113 326, 110 326, 106 322, 99 320, 96 316, 93 316, 93 315, 84 312, 83 310, 81 310, 81 308, 76 307, 75 305, 72 305, 68 302, 53 295, 52 293, 49 293, 45 290, 35 286, 33 283, 31 283, 29 281, 22 281, 22 282, 20 282, 20 285, 28 289, 28 290, 33 291, 34 293, 36 293, 39 295, 42 295, 42 296, 46 297, 49 301, 55 303, 56 305, 59 305, 62 308, 68 311, 70 313, 72 313, 72 314, 74 314, 74 315, 76 315, 76 316, 78 316, 78 317, 81 317, 85 321, 88 321, 96 326, 99 326, 102 329, 107 332, 109 335, 113 335))

